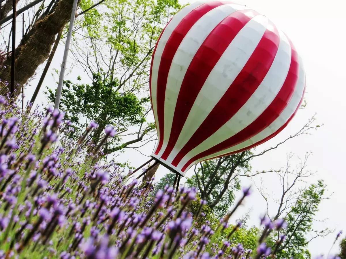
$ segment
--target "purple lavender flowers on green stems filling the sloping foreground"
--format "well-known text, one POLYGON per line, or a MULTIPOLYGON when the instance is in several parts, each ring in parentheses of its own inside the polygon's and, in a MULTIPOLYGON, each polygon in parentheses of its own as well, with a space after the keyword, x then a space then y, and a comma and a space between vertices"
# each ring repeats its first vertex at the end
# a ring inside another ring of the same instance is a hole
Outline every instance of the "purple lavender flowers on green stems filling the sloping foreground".
POLYGON ((94 122, 73 143, 62 112, 23 114, 2 96, 0 106, 0 258, 276 257, 285 235, 272 246, 266 239, 274 229, 284 233, 283 219, 261 219, 254 251, 231 241, 240 223, 220 240, 249 188, 213 227, 203 221, 205 201, 189 210, 195 188, 167 185, 153 197, 153 180, 141 185, 114 161, 95 164, 115 127, 88 147, 94 122))

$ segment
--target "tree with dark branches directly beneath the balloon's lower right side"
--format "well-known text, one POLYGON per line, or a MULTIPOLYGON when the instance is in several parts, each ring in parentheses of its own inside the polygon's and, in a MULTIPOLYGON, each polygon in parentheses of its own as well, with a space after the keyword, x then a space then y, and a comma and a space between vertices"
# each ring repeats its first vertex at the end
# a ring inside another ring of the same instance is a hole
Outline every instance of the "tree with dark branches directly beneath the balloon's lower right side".
POLYGON ((252 177, 257 174, 272 172, 251 173, 250 161, 254 157, 274 150, 291 138, 309 134, 311 129, 319 127, 319 125, 313 125, 314 121, 315 115, 297 133, 260 153, 254 154, 255 149, 252 149, 201 162, 200 167, 195 166, 194 175, 187 179, 187 184, 198 187, 201 198, 207 201, 209 207, 218 217, 222 217, 226 214, 229 206, 233 204, 234 192, 240 189, 240 177, 252 177))

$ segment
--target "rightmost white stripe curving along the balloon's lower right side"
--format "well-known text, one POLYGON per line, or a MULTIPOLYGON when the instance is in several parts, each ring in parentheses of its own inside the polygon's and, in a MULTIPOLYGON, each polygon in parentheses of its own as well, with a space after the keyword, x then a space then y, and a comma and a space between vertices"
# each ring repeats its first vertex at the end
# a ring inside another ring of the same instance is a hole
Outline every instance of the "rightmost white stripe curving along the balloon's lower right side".
MULTIPOLYGON (((296 89, 293 93, 293 96, 292 96, 289 104, 282 111, 280 116, 275 119, 274 122, 272 122, 268 127, 266 127, 263 131, 261 131, 257 135, 253 136, 252 138, 250 138, 250 139, 248 139, 248 140, 246 140, 246 141, 244 141, 238 145, 235 145, 233 147, 227 148, 226 150, 223 150, 223 151, 220 151, 220 152, 217 152, 214 154, 210 154, 208 156, 204 156, 201 159, 191 163, 191 165, 184 172, 186 172, 195 163, 210 159, 212 157, 221 156, 221 155, 224 155, 227 153, 241 150, 244 147, 251 146, 252 144, 254 144, 256 142, 263 140, 264 138, 270 136, 271 134, 273 134, 274 132, 279 130, 279 128, 281 128, 288 121, 288 119, 294 113, 295 109, 298 107, 299 102, 303 96, 303 91, 304 91, 305 85, 306 85, 305 84, 305 72, 304 72, 301 58, 299 58, 299 76, 298 76, 296 89)), ((181 168, 179 165, 177 167, 181 168)))

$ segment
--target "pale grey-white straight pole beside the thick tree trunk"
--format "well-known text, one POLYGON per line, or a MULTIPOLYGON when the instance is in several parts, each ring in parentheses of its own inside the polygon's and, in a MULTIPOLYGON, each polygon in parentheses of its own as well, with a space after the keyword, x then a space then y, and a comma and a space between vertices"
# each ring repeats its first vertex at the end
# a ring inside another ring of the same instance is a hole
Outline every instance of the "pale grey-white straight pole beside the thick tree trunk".
POLYGON ((61 90, 63 87, 66 61, 67 61, 67 55, 69 54, 70 42, 71 42, 71 37, 72 37, 72 29, 73 29, 73 22, 74 22, 74 17, 76 15, 76 9, 77 9, 77 2, 78 2, 78 0, 73 1, 73 7, 72 7, 72 12, 71 12, 71 18, 70 18, 70 27, 69 27, 69 32, 67 33, 67 37, 66 37, 64 57, 63 57, 63 62, 61 64, 61 71, 60 71, 60 76, 59 76, 58 89, 56 91, 54 109, 58 109, 59 104, 60 104, 61 90))

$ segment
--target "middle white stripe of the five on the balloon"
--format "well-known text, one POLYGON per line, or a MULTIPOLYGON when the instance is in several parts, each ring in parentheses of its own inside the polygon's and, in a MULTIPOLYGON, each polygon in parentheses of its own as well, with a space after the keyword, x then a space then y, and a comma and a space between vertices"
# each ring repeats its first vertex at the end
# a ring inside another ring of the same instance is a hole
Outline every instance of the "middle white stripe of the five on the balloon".
POLYGON ((267 18, 257 15, 231 41, 201 88, 167 161, 173 161, 242 71, 261 40, 266 25, 267 18))

